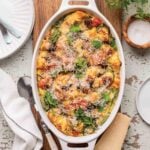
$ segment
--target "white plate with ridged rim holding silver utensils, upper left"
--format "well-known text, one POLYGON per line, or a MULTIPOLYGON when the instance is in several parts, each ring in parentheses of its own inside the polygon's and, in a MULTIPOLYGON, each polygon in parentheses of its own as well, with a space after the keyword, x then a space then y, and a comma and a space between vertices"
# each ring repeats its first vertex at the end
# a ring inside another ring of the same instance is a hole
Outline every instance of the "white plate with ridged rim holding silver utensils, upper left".
POLYGON ((16 38, 9 33, 12 41, 11 44, 6 44, 0 31, 0 59, 4 59, 20 49, 28 40, 35 16, 32 0, 0 0, 0 9, 1 7, 6 11, 7 19, 21 32, 21 38, 16 38))

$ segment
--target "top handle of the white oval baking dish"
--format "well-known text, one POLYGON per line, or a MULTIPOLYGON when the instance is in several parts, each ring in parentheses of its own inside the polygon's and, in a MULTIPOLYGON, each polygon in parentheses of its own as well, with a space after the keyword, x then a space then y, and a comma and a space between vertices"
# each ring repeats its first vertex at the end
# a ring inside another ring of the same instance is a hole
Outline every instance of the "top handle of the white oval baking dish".
POLYGON ((79 6, 81 8, 98 10, 95 0, 62 0, 59 10, 66 10, 69 8, 75 8, 79 6), (74 3, 71 4, 71 2, 74 3), (80 2, 85 2, 86 4, 81 4, 80 2))

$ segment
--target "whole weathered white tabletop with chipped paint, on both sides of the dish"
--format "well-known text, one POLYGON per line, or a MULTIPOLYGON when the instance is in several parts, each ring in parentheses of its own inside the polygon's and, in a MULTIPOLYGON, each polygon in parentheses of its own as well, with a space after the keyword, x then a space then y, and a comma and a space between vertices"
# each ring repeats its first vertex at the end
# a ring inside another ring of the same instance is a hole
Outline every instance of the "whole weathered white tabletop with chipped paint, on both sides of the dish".
MULTIPOLYGON (((127 15, 134 13, 134 6, 127 15)), ((123 146, 124 150, 150 150, 150 126, 142 121, 136 110, 135 98, 139 85, 150 77, 150 50, 138 51, 123 43, 126 60, 126 86, 121 111, 131 116, 132 122, 123 146)), ((8 72, 17 82, 18 78, 30 75, 32 61, 32 40, 10 58, 0 61, 0 68, 8 72)), ((0 111, 0 150, 10 150, 14 134, 0 111)))

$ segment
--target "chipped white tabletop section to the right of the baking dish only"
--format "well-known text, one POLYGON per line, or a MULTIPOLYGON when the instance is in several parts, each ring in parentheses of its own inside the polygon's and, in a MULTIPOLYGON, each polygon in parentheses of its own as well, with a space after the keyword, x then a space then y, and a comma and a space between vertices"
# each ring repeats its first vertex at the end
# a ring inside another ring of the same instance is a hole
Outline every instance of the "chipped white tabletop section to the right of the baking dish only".
MULTIPOLYGON (((144 7, 150 12, 149 4, 144 7)), ((135 13, 135 6, 128 9, 124 20, 135 13)), ((139 116, 136 109, 136 94, 143 81, 150 77, 150 49, 143 51, 131 48, 123 41, 126 61, 126 87, 121 111, 131 116, 132 122, 124 144, 124 150, 150 150, 150 126, 139 116)))

